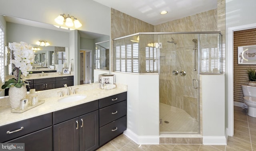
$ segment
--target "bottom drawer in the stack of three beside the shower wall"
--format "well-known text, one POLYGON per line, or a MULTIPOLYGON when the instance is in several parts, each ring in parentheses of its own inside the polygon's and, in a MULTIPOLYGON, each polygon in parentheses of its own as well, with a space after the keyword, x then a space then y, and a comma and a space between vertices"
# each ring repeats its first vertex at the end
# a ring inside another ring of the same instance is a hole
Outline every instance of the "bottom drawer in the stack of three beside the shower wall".
POLYGON ((126 125, 126 116, 123 116, 118 120, 115 120, 105 126, 100 127, 100 146, 112 140, 119 134, 123 133, 123 131, 126 130, 126 125))

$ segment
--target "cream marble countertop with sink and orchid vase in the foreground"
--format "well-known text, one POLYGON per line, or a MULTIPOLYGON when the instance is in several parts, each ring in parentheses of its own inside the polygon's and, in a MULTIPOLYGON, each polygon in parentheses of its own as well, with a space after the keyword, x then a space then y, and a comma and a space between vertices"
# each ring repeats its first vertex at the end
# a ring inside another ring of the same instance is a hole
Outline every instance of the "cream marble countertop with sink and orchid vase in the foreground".
POLYGON ((32 96, 38 96, 39 100, 44 100, 45 102, 39 106, 36 106, 30 110, 23 113, 13 113, 11 112, 11 107, 8 101, 8 97, 0 98, 0 126, 6 124, 11 124, 21 120, 26 120, 28 118, 33 118, 43 114, 51 113, 54 111, 62 110, 79 104, 84 104, 86 102, 91 102, 98 100, 100 98, 105 98, 115 94, 119 94, 127 91, 127 86, 124 84, 116 84, 117 87, 111 90, 100 89, 99 83, 95 84, 83 84, 78 86, 72 86, 71 92, 76 89, 76 94, 73 95, 86 95, 86 98, 76 102, 58 102, 59 99, 68 97, 66 88, 56 88, 51 90, 38 91, 35 94, 27 94, 26 98, 31 100, 32 96), (60 91, 63 92, 64 96, 60 97, 60 91))

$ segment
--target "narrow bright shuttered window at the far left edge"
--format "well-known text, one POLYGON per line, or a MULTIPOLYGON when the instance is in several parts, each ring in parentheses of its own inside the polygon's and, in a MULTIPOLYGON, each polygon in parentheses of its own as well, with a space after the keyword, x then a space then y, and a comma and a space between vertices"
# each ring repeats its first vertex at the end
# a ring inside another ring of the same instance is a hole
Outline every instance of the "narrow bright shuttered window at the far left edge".
POLYGON ((0 24, 0 77, 4 83, 4 28, 0 24))

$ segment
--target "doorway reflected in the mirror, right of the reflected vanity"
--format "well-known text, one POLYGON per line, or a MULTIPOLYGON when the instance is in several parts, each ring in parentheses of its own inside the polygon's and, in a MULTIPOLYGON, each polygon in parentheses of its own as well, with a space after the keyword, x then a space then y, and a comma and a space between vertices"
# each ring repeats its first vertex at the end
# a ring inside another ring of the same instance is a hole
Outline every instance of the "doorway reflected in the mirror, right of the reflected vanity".
POLYGON ((92 81, 92 50, 80 50, 80 84, 92 81))

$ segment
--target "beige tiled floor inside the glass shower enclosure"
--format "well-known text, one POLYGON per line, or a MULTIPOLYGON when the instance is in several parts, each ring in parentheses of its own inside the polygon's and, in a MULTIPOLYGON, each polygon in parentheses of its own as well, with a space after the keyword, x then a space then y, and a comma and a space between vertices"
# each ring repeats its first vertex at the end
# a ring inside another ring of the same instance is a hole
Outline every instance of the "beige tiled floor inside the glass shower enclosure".
POLYGON ((160 119, 162 119, 161 133, 197 133, 198 131, 198 121, 180 108, 160 103, 160 119))

